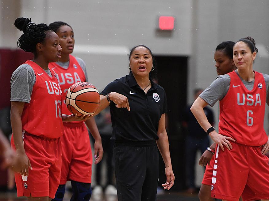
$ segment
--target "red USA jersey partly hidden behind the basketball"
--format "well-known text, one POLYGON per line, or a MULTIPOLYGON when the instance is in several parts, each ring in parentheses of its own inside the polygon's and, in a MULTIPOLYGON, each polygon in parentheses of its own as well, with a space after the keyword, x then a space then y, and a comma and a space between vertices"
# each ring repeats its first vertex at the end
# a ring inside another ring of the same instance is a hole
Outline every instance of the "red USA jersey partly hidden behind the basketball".
MULTIPOLYGON (((85 73, 83 69, 81 68, 81 66, 79 65, 76 58, 70 54, 69 54, 69 66, 67 69, 64 69, 63 67, 61 67, 55 62, 49 63, 49 66, 55 71, 56 76, 59 80, 59 84, 63 90, 62 99, 64 103, 62 106, 63 108, 62 113, 70 115, 72 113, 67 109, 66 104, 65 104, 66 92, 69 89, 69 87, 73 85, 74 83, 86 82, 85 73)), ((79 123, 79 121, 75 121, 75 123, 79 123)))

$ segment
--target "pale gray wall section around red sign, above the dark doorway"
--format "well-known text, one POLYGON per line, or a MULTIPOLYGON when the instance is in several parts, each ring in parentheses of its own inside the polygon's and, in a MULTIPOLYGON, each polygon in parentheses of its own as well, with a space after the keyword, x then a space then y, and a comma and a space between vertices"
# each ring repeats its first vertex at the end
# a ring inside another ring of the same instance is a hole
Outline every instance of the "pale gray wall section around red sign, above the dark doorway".
POLYGON ((21 0, 19 8, 21 16, 35 23, 62 20, 70 24, 76 40, 73 54, 83 58, 90 82, 102 89, 128 73, 128 54, 135 45, 145 44, 156 55, 190 55, 191 5, 191 1, 176 0, 21 0), (175 30, 159 31, 160 15, 174 16, 175 30))

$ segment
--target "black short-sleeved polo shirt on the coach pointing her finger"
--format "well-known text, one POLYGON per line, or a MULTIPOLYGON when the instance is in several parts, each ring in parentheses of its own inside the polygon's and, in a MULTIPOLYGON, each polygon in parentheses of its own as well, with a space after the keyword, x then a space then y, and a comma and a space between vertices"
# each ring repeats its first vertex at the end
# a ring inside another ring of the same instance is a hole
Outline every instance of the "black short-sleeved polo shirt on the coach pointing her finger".
POLYGON ((157 131, 161 115, 167 112, 163 87, 151 82, 147 94, 139 87, 133 73, 116 79, 106 86, 102 95, 117 92, 128 98, 130 110, 110 103, 112 139, 123 141, 158 140, 157 131))

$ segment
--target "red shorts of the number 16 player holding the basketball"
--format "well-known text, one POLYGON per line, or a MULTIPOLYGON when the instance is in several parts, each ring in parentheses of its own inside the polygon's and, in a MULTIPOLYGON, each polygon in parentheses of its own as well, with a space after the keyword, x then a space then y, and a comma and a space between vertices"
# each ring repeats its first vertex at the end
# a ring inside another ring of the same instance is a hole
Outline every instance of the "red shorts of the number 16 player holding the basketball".
MULTIPOLYGON (((27 181, 15 173, 17 196, 54 198, 60 183, 60 138, 51 139, 25 132, 23 143, 33 170, 29 169, 27 181)), ((11 146, 15 149, 13 136, 11 146)))

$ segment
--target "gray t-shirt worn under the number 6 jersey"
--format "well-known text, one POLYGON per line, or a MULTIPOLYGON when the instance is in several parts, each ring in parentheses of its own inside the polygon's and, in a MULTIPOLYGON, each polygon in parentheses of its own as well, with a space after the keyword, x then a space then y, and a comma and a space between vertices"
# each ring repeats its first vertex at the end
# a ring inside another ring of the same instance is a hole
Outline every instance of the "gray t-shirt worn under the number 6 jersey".
MULTIPOLYGON (((238 71, 235 71, 239 76, 238 71)), ((240 76, 239 76, 240 77, 240 76)), ((269 75, 263 74, 265 84, 266 84, 266 103, 269 105, 269 75)), ((245 87, 251 91, 254 86, 254 80, 247 82, 240 77, 241 81, 245 87)), ((202 94, 199 95, 204 101, 206 101, 210 106, 214 106, 218 100, 221 100, 227 94, 230 87, 231 78, 228 74, 217 76, 209 87, 206 88, 202 94)))

